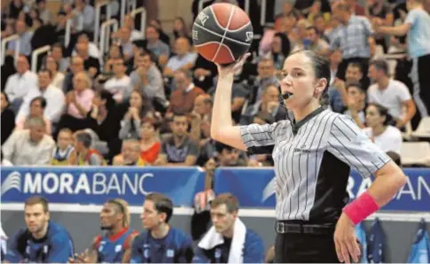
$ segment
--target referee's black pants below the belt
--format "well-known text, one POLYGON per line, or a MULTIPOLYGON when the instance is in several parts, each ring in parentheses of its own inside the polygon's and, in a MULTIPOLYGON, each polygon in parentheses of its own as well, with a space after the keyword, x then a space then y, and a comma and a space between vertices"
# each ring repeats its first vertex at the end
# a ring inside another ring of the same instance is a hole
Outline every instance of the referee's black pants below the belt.
POLYGON ((333 235, 277 234, 276 263, 339 263, 333 235))

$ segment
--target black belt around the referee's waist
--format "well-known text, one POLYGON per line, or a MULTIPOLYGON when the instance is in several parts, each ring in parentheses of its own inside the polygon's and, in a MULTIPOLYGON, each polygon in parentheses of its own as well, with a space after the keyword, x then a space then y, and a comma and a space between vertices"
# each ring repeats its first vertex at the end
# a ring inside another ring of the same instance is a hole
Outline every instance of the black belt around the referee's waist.
POLYGON ((292 223, 287 221, 277 221, 275 230, 278 234, 332 235, 334 233, 334 227, 332 225, 292 223))

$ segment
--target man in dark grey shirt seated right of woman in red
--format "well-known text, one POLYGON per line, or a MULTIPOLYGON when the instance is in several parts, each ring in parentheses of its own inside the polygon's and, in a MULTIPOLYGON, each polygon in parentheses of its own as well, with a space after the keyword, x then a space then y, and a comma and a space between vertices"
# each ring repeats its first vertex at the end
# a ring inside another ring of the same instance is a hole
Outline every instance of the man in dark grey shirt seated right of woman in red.
POLYGON ((159 158, 155 161, 158 166, 194 166, 199 157, 199 147, 192 142, 188 135, 188 117, 175 113, 171 122, 172 136, 167 137, 161 144, 159 158))

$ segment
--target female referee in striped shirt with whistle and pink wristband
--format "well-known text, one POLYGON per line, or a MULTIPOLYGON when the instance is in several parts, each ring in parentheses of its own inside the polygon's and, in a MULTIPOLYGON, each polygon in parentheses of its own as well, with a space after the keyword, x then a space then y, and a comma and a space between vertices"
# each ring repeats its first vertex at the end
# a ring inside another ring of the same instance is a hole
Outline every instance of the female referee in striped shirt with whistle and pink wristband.
POLYGON ((248 56, 218 66, 211 136, 244 151, 273 150, 275 262, 358 261, 355 225, 394 197, 406 182, 403 171, 353 120, 321 105, 330 82, 329 63, 309 50, 293 53, 284 63, 280 103, 294 120, 233 126, 233 76, 248 56), (350 168, 376 180, 347 206, 350 168))

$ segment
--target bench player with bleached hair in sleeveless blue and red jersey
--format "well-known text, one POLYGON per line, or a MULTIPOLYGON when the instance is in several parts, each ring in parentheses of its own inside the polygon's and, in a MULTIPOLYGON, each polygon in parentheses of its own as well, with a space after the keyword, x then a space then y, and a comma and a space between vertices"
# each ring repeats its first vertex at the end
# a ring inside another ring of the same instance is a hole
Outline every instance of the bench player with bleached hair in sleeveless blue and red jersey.
POLYGON ((108 200, 100 213, 100 228, 106 234, 95 237, 90 248, 70 262, 129 263, 131 243, 138 234, 129 224, 129 204, 120 198, 108 200))

